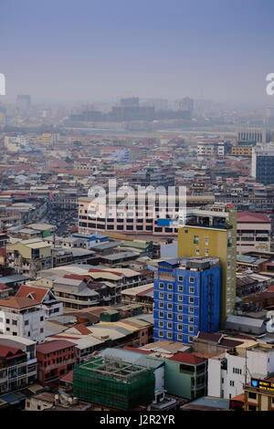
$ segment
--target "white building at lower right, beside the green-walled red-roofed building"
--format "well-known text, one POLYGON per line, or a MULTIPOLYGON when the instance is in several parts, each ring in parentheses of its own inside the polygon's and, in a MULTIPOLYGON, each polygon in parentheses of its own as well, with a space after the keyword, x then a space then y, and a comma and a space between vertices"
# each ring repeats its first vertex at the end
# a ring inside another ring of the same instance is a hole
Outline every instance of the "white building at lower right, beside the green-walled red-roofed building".
POLYGON ((207 394, 217 398, 234 398, 243 393, 251 377, 265 378, 274 371, 274 347, 248 340, 208 360, 207 394), (251 345, 250 345, 251 343, 251 345))

